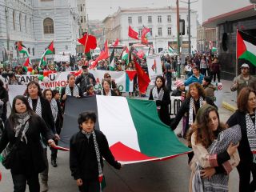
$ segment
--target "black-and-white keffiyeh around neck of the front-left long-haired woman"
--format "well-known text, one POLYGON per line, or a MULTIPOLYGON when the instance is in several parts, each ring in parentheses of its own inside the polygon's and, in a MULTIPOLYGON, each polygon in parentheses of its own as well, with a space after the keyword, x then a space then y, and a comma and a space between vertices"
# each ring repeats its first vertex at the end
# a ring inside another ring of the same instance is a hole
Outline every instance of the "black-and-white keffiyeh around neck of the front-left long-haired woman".
POLYGON ((27 143, 27 139, 26 139, 26 131, 29 129, 29 122, 28 120, 30 119, 30 114, 28 112, 22 113, 22 114, 16 114, 17 118, 17 122, 16 122, 16 126, 14 127, 14 132, 15 132, 15 138, 18 137, 18 134, 22 128, 22 126, 24 126, 24 129, 22 131, 22 136, 21 136, 21 141, 27 143))

